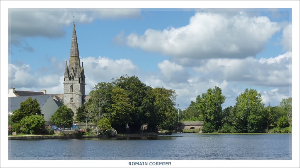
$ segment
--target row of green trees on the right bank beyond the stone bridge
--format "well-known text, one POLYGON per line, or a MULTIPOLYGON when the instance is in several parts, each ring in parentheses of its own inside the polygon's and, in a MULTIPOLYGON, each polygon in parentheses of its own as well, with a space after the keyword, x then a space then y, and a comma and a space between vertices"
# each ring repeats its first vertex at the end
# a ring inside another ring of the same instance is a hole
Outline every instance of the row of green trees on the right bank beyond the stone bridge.
POLYGON ((209 88, 183 110, 182 120, 203 121, 202 132, 206 133, 291 132, 292 97, 282 99, 279 106, 264 107, 261 94, 246 88, 234 106, 222 109, 225 98, 219 87, 209 88))

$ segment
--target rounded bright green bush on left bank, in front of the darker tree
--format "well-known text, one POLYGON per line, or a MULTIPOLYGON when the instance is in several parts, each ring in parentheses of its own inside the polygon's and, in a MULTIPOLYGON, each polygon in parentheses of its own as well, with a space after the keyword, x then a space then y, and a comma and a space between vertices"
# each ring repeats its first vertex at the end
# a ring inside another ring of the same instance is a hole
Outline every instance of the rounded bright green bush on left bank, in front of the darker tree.
POLYGON ((25 134, 38 134, 45 128, 46 123, 41 115, 31 115, 20 121, 21 131, 25 134))

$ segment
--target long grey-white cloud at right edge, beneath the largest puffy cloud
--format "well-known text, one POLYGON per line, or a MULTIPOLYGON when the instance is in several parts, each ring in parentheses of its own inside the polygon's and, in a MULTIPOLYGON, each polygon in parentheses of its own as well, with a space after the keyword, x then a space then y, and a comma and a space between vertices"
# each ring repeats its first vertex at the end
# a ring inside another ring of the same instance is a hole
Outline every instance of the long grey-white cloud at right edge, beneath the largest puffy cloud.
POLYGON ((209 59, 203 65, 194 67, 198 73, 213 75, 220 80, 247 82, 260 86, 291 85, 291 52, 274 58, 259 60, 246 59, 209 59))

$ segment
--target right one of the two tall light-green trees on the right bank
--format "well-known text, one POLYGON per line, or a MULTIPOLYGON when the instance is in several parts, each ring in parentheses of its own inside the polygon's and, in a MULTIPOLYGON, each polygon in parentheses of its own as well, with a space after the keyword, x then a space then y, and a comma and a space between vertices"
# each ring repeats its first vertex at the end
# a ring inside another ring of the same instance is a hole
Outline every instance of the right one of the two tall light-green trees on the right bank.
POLYGON ((246 89, 236 97, 235 129, 238 132, 265 132, 267 112, 256 90, 246 89))

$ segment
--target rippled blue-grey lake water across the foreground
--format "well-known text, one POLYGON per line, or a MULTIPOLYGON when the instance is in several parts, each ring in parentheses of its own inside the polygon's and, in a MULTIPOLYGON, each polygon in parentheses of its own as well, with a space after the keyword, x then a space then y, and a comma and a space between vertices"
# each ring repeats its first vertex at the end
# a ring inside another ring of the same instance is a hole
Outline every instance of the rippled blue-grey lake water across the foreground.
POLYGON ((9 140, 9 159, 292 159, 291 134, 9 140))

